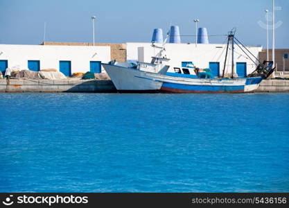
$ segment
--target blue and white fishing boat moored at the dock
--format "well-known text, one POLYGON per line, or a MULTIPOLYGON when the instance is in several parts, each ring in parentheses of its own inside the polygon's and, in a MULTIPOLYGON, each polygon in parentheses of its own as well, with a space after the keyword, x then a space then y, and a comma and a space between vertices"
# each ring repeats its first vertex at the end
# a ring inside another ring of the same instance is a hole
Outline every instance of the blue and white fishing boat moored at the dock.
MULTIPOLYGON (((192 63, 186 66, 186 71, 175 73, 168 72, 170 66, 166 64, 170 59, 164 55, 165 44, 157 55, 152 57, 151 62, 116 62, 112 60, 108 64, 103 64, 105 71, 112 79, 112 83, 119 92, 168 92, 168 93, 244 93, 254 92, 263 79, 268 78, 273 73, 272 61, 259 61, 256 70, 244 78, 234 77, 234 44, 244 49, 247 55, 251 53, 235 37, 236 30, 229 32, 227 36, 227 51, 225 56, 225 66, 220 77, 213 77, 210 69, 198 69, 192 63), (227 55, 231 45, 231 77, 225 78, 225 67, 227 55), (247 50, 247 53, 246 53, 247 50)), ((167 38, 166 38, 167 39, 167 38)), ((251 55, 253 55, 251 53, 251 55)), ((248 55, 249 56, 249 55, 248 55)), ((256 60, 258 60, 256 58, 256 60)), ((253 61, 253 60, 252 60, 253 61)))

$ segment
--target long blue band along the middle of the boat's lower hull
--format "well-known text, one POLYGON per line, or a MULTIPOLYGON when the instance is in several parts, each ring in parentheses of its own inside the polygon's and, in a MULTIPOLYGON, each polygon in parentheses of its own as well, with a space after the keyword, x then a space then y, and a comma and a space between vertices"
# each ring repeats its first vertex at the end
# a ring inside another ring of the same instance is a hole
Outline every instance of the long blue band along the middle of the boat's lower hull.
POLYGON ((175 92, 244 92, 244 86, 183 85, 163 83, 161 89, 173 89, 175 92))

